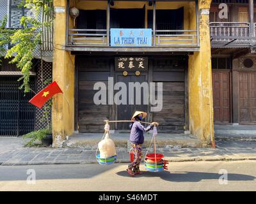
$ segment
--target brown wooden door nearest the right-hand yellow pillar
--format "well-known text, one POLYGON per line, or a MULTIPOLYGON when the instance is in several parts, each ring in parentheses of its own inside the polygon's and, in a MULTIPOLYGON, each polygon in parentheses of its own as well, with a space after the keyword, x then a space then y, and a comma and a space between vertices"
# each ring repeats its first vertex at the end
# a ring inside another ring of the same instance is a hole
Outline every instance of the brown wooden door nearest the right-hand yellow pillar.
POLYGON ((212 72, 214 122, 230 122, 230 72, 212 72))

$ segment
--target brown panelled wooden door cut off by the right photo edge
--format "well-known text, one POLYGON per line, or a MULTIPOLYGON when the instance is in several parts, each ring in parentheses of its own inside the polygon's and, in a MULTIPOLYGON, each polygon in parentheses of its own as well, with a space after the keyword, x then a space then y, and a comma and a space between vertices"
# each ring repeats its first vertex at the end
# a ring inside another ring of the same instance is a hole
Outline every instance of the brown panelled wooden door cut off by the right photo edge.
POLYGON ((256 73, 239 73, 239 122, 256 122, 256 73))

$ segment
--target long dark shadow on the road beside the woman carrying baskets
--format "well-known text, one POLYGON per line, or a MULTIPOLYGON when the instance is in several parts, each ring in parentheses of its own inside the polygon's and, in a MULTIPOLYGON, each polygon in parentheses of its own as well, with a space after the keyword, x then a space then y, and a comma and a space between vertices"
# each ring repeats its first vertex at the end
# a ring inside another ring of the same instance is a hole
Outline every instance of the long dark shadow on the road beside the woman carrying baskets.
MULTIPOLYGON (((131 177, 127 171, 119 171, 116 173, 122 177, 131 177)), ((189 171, 161 171, 161 172, 149 172, 143 171, 141 175, 135 175, 134 179, 140 177, 159 177, 160 179, 167 180, 170 182, 199 182, 201 180, 218 180, 221 174, 218 173, 205 173, 205 172, 189 172, 189 171)), ((254 180, 255 177, 250 175, 243 175, 238 173, 228 173, 228 181, 245 181, 254 180)))

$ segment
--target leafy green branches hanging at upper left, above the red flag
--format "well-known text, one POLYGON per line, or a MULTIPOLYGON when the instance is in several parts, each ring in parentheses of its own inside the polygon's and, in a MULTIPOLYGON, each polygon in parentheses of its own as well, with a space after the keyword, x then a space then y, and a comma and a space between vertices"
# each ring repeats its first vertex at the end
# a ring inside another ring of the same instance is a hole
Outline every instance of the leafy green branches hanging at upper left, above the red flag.
POLYGON ((0 22, 0 51, 4 51, 4 45, 12 43, 12 47, 6 50, 5 58, 13 57, 10 63, 17 64, 23 80, 20 89, 29 92, 29 71, 33 66, 33 53, 36 47, 41 45, 42 27, 49 27, 52 24, 53 6, 52 0, 23 0, 20 6, 33 11, 33 17, 27 16, 20 19, 22 29, 6 29, 7 18, 0 22), (49 22, 41 22, 40 11, 49 17, 49 22))

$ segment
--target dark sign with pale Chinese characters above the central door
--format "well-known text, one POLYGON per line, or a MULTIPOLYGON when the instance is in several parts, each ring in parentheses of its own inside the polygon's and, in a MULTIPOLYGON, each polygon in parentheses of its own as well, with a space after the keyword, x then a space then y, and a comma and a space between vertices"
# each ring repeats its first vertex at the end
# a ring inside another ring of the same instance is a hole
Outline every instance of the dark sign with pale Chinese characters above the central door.
POLYGON ((148 71, 148 57, 115 57, 116 71, 148 71))

